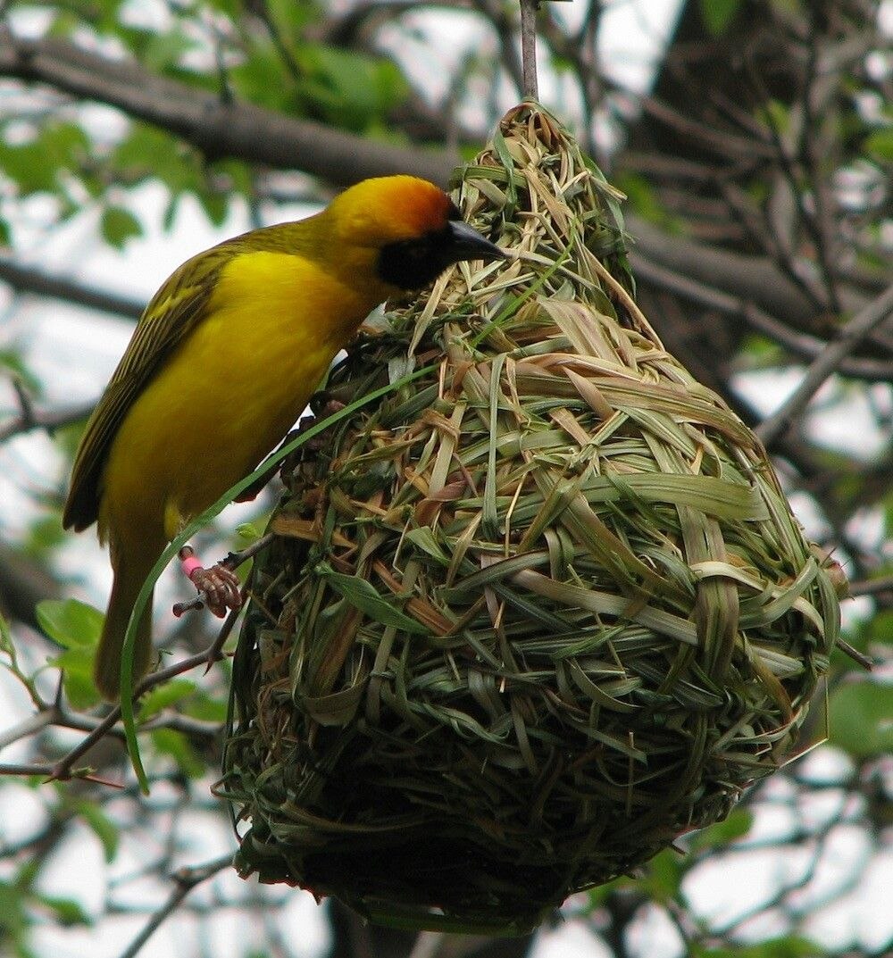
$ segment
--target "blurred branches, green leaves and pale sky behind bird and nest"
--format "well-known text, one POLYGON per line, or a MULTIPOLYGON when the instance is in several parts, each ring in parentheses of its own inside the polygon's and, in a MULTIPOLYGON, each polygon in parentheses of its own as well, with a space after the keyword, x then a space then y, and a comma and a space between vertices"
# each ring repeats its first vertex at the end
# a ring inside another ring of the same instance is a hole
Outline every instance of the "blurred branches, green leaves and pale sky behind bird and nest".
MULTIPOLYGON (((806 748, 685 855, 568 901, 531 939, 377 929, 242 882, 210 794, 227 668, 144 702, 139 795, 89 662, 110 584, 59 515, 83 419, 151 293, 245 229, 356 180, 446 183, 521 97, 516 0, 0 4, 0 954, 316 958, 881 955, 893 945, 893 324, 765 422, 853 317, 889 295, 893 3, 573 0, 538 14, 540 99, 624 207, 640 306, 754 427, 807 533, 851 582, 806 748), (60 674, 64 682, 60 684, 60 674), (109 787, 104 783, 114 783, 109 787)), ((275 490, 196 545, 263 531, 275 490)), ((169 570, 170 572, 170 570, 169 570)), ((165 650, 214 622, 175 620, 165 650)))

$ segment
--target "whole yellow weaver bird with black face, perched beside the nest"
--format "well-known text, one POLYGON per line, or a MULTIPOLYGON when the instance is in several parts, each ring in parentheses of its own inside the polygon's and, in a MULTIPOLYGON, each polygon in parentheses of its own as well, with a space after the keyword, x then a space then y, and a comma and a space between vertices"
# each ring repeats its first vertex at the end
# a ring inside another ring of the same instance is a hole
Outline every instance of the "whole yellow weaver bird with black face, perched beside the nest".
MULTIPOLYGON (((63 513, 97 522, 114 583, 94 676, 118 697, 142 583, 167 543, 263 460, 368 313, 460 260, 504 254, 413 176, 365 180, 316 216, 228 239, 183 263, 152 298, 87 422, 63 513)), ((186 571, 222 615, 238 583, 186 571)), ((134 681, 149 671, 150 608, 134 681)))

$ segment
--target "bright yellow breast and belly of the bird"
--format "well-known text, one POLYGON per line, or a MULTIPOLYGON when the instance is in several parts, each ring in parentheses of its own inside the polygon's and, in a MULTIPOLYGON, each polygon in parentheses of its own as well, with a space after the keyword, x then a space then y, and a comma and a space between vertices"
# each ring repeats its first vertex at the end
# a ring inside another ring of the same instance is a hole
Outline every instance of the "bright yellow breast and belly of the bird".
POLYGON ((208 315, 127 413, 104 472, 101 529, 165 539, 207 509, 282 438, 378 303, 312 263, 243 254, 208 315))

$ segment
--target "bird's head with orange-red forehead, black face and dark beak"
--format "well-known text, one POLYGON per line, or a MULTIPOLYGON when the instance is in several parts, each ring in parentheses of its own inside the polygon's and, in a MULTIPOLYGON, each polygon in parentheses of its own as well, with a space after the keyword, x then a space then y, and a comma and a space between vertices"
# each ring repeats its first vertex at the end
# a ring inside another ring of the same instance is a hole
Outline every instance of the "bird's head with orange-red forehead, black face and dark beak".
POLYGON ((400 289, 428 285, 454 262, 505 259, 443 190, 415 176, 363 180, 332 200, 326 215, 343 243, 373 251, 378 280, 400 289))

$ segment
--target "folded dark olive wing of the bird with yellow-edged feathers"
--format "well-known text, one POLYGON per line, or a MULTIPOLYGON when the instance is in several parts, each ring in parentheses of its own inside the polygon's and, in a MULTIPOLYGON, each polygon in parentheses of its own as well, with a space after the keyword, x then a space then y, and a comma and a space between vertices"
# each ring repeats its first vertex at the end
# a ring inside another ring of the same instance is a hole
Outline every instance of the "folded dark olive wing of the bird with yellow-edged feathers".
POLYGON ((62 513, 64 528, 96 521, 108 450, 130 407, 172 351, 206 314, 221 266, 232 249, 221 244, 183 263, 152 297, 126 352, 80 440, 62 513))

